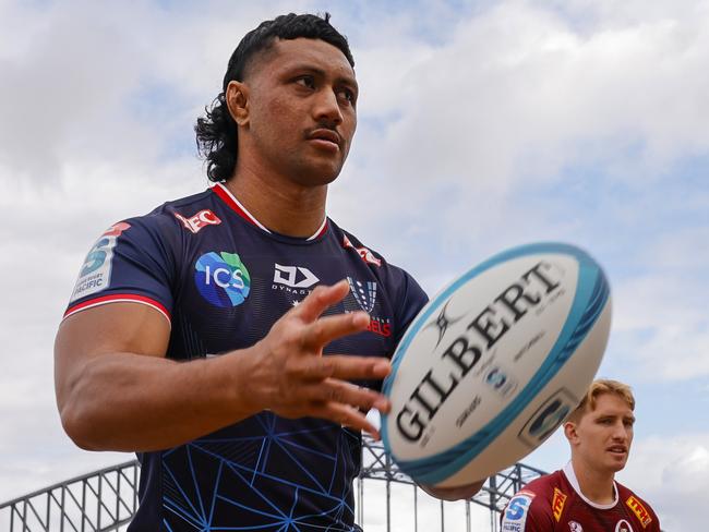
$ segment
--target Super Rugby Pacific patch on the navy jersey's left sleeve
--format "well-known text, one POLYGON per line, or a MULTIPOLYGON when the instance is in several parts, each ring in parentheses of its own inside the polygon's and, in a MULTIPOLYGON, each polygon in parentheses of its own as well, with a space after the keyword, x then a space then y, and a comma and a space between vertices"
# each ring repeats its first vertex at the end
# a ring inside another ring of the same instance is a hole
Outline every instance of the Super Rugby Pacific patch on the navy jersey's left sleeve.
POLYGON ((81 267, 74 291, 69 300, 70 303, 86 295, 100 292, 109 287, 111 281, 113 247, 116 247, 116 243, 121 233, 130 227, 130 223, 120 221, 109 227, 96 241, 81 267))

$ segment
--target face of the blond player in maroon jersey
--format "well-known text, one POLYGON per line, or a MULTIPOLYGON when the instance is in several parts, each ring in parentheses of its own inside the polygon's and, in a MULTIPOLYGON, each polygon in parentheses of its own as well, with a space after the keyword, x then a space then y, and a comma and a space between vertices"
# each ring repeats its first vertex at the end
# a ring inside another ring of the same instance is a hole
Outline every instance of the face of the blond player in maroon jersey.
POLYGON ((587 411, 569 442, 576 456, 596 471, 621 471, 633 443, 635 416, 625 400, 616 394, 601 394, 596 409, 587 411))

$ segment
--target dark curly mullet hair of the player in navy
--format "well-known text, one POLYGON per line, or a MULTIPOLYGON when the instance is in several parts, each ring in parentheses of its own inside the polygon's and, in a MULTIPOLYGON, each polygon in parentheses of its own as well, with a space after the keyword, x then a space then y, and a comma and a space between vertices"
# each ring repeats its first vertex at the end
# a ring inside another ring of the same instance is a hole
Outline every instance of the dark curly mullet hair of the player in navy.
POLYGON ((237 165, 237 124, 229 114, 225 93, 232 80, 243 81, 247 66, 251 60, 273 46, 276 38, 296 39, 305 37, 321 39, 338 48, 351 66, 354 59, 350 52, 347 38, 329 23, 329 13, 322 16, 289 13, 273 21, 264 21, 259 27, 249 32, 231 55, 227 72, 224 75, 221 92, 205 108, 206 116, 200 117, 194 131, 196 133, 197 153, 205 159, 207 177, 211 181, 226 181, 233 173, 237 165))

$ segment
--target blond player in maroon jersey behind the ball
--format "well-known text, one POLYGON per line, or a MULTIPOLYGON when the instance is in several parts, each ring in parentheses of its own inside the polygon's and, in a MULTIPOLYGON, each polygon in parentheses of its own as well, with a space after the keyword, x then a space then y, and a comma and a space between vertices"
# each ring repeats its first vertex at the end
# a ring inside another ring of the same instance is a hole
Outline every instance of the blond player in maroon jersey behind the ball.
POLYGON ((629 386, 593 382, 564 424, 572 460, 509 500, 502 531, 659 532, 650 505, 614 480, 630 451, 634 409, 629 386))

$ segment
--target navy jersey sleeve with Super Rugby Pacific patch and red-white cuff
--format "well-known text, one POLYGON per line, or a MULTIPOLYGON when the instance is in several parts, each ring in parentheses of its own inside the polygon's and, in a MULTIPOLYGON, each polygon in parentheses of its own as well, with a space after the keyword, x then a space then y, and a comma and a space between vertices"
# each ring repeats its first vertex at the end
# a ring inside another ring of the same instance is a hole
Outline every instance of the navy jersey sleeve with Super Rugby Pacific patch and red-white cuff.
POLYGON ((84 259, 64 318, 107 303, 135 302, 170 321, 175 261, 165 229, 145 217, 108 228, 84 259))

